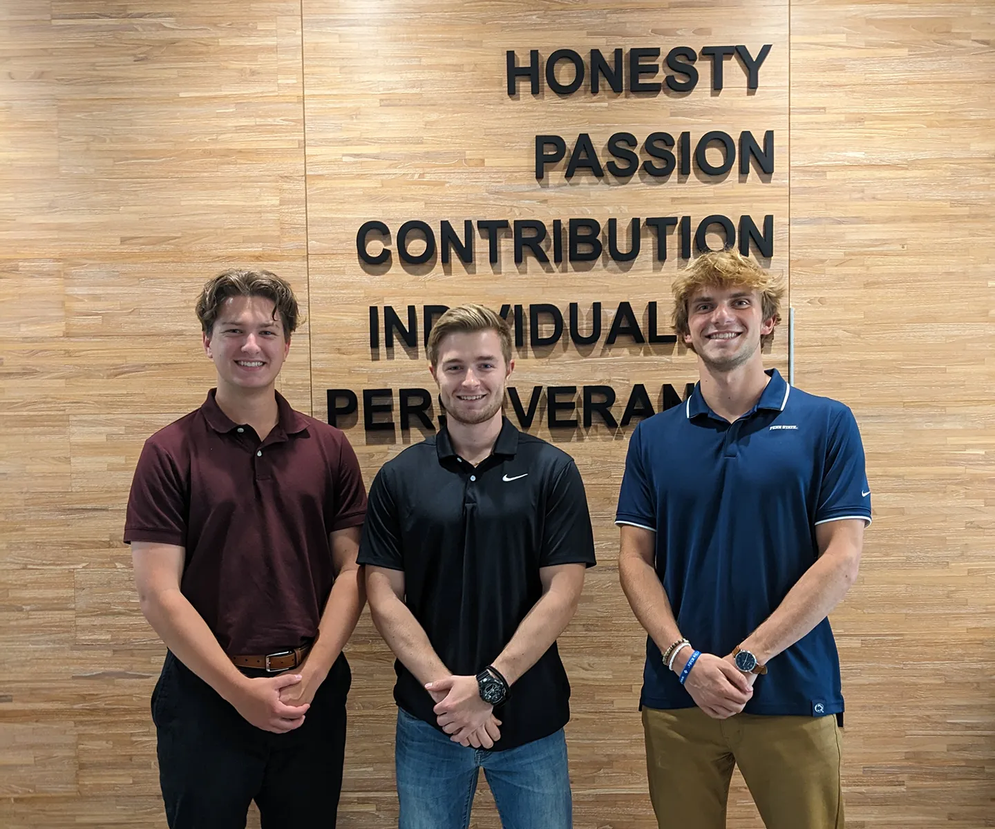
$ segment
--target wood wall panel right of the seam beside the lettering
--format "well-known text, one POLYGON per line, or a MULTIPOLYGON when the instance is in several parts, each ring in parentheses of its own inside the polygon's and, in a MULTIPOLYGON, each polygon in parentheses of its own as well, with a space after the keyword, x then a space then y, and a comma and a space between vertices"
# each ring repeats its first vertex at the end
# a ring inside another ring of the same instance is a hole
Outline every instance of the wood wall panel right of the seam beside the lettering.
POLYGON ((792 4, 796 380, 874 490, 833 618, 851 826, 995 820, 992 11, 792 4))

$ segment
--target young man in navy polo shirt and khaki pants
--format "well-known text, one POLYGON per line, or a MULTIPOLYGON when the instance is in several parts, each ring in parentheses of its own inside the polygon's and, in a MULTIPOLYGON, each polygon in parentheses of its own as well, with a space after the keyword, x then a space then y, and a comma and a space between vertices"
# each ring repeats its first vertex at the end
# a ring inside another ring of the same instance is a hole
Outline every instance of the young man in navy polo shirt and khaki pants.
POLYGON ((857 423, 764 371, 783 289, 755 263, 707 254, 674 294, 700 382, 634 431, 616 517, 622 587, 649 633, 657 820, 723 827, 738 764, 768 829, 839 829, 843 696, 827 615, 871 522, 857 423))

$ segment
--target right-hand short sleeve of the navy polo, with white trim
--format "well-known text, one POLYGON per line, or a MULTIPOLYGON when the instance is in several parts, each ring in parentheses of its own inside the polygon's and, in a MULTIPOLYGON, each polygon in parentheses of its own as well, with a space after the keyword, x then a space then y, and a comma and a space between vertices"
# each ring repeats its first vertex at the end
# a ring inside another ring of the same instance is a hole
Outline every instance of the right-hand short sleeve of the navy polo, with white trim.
POLYGON ((815 522, 844 518, 863 518, 871 523, 864 444, 854 413, 846 406, 830 427, 815 522))

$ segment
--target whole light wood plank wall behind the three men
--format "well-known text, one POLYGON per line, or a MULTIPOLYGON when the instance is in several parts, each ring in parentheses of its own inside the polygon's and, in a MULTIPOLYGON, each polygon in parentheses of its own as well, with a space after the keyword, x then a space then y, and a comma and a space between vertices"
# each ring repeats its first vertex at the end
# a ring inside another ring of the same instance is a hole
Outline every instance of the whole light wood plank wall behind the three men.
MULTIPOLYGON (((420 354, 373 359, 368 305, 628 300, 643 322, 651 300, 666 315, 677 267, 641 257, 546 273, 506 257, 497 274, 486 262, 366 273, 361 221, 740 205, 777 217, 771 267, 790 269, 796 381, 852 405, 876 491, 861 580, 834 616, 849 825, 993 825, 993 29, 990 7, 938 0, 5 3, 0 826, 165 825, 148 717, 162 648, 120 532, 142 440, 211 381, 192 312, 205 278, 252 263, 294 283, 307 322, 282 390, 323 416, 329 387, 428 387, 420 354), (508 48, 679 43, 774 50, 753 97, 734 64, 714 97, 503 94, 508 48), (642 138, 701 124, 775 129, 771 180, 566 185, 561 163, 540 187, 531 174, 537 132, 589 131, 600 147, 616 128, 642 138)), ((779 336, 773 364, 784 346, 779 336)), ((694 376, 687 354, 661 346, 518 357, 525 395, 694 376)), ((367 479, 420 437, 367 440, 361 420, 349 435, 367 479)), ((655 825, 634 710, 642 637, 610 524, 627 435, 552 435, 584 473, 600 560, 562 640, 579 827, 655 825)), ((391 659, 368 617, 349 654, 340 825, 390 826, 391 659)), ((475 825, 497 826, 481 798, 475 825)), ((761 825, 738 780, 729 825, 761 825)))

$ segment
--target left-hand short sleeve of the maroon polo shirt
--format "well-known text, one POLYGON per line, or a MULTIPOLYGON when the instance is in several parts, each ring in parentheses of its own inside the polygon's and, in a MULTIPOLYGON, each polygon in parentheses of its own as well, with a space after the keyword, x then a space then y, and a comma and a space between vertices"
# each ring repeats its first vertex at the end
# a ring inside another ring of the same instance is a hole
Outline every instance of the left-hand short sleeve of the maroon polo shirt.
POLYGON ((124 541, 186 546, 189 493, 176 461, 154 436, 145 441, 131 479, 124 541))

